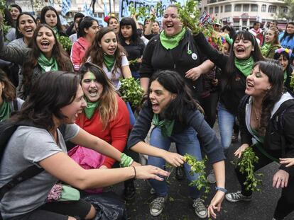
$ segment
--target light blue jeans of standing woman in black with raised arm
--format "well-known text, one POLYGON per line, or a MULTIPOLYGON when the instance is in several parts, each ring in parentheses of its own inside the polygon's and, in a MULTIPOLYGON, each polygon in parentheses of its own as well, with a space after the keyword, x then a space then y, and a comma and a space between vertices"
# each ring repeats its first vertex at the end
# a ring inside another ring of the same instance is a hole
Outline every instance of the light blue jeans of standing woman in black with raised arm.
POLYGON ((219 134, 221 137, 222 148, 229 149, 232 142, 233 127, 236 115, 229 112, 222 103, 217 106, 219 117, 219 134))

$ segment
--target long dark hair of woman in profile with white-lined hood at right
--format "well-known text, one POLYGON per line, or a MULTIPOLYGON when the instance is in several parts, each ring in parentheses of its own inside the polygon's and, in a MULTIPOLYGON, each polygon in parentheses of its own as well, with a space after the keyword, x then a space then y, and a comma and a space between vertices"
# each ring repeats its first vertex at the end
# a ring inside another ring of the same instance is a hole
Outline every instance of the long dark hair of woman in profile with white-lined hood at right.
POLYGON ((261 122, 258 127, 258 133, 263 135, 266 133, 273 106, 283 95, 284 74, 282 67, 275 61, 259 61, 254 64, 253 68, 255 66, 258 66, 258 69, 268 76, 268 82, 271 83, 271 88, 266 91, 261 104, 261 122))

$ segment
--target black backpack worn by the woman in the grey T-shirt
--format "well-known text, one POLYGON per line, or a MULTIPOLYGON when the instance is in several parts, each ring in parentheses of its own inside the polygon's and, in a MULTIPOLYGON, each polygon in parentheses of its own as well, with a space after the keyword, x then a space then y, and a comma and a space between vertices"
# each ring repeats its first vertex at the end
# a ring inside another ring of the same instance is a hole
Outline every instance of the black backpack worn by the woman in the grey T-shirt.
MULTIPOLYGON (((20 122, 11 122, 10 120, 7 120, 4 122, 0 122, 0 161, 2 159, 2 156, 4 155, 4 151, 6 149, 10 137, 16 131, 18 126, 39 127, 38 125, 34 125, 33 122, 30 122, 28 120, 23 120, 20 122)), ((65 134, 65 128, 66 125, 60 125, 59 127, 62 136, 65 134)), ((21 173, 14 175, 13 178, 9 181, 9 183, 6 183, 0 188, 0 201, 4 197, 6 192, 11 190, 19 183, 28 180, 29 178, 32 178, 33 176, 37 175, 43 170, 43 168, 39 168, 38 166, 33 165, 21 171, 21 173)))

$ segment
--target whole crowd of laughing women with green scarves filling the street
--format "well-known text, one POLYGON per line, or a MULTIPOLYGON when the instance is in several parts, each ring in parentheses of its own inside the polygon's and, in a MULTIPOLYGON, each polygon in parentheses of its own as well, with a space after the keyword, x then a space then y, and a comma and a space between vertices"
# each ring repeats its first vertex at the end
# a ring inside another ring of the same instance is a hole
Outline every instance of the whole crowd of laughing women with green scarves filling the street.
POLYGON ((0 32, 0 121, 19 126, 1 158, 0 186, 31 166, 43 170, 1 195, 3 219, 94 219, 97 210, 80 196, 52 196, 60 182, 87 194, 124 182, 130 200, 135 179, 149 179, 156 194, 150 214, 158 216, 168 199, 165 163, 183 168, 192 183, 199 175, 190 175, 183 156, 201 161, 203 151, 216 192, 207 207, 203 190, 189 185, 191 204, 201 219, 216 218, 224 197, 252 198, 239 167, 241 191, 225 187, 224 161, 236 130, 241 146, 234 155, 251 147, 259 158, 254 171, 281 163, 273 175, 273 187, 283 188, 273 219, 293 211, 293 22, 280 34, 268 28, 259 45, 249 31, 221 30, 215 19, 214 37, 225 39, 216 45, 202 33, 192 35, 175 5, 163 13, 161 31, 157 21, 142 24, 136 16, 107 17, 102 28, 77 13, 63 30, 51 6, 42 9, 40 24, 18 5, 5 11, 1 23, 10 28, 0 32), (62 48, 62 36, 72 40, 70 51, 62 48), (144 91, 139 108, 119 93, 120 79, 132 77, 144 91), (212 129, 216 115, 220 140, 212 129), (172 142, 176 153, 169 151, 172 142), (148 155, 148 166, 138 163, 138 153, 148 155))

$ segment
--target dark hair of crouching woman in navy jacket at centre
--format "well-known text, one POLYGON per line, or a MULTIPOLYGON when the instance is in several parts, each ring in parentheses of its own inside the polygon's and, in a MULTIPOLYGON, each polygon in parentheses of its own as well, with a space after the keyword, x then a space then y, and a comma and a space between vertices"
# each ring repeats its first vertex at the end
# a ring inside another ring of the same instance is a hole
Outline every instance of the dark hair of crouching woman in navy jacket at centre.
MULTIPOLYGON (((192 91, 185 83, 185 79, 177 72, 163 70, 153 74, 149 82, 148 94, 150 93, 150 87, 153 81, 158 81, 167 91, 176 94, 176 97, 170 101, 163 111, 163 117, 166 119, 175 119, 183 122, 185 111, 189 109, 195 110, 198 107, 197 102, 192 98, 192 91)), ((152 104, 149 97, 147 98, 147 103, 151 108, 152 104)))

